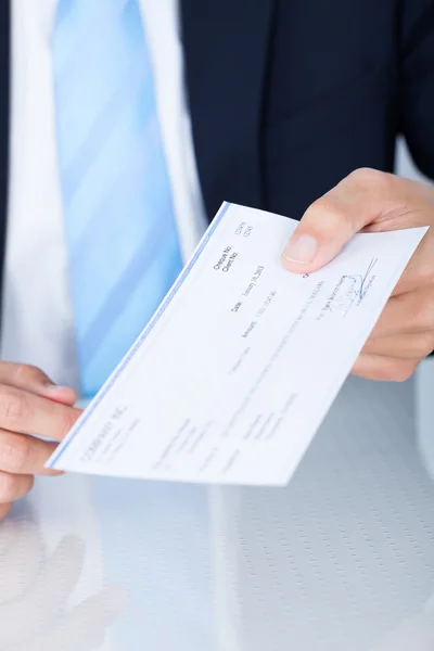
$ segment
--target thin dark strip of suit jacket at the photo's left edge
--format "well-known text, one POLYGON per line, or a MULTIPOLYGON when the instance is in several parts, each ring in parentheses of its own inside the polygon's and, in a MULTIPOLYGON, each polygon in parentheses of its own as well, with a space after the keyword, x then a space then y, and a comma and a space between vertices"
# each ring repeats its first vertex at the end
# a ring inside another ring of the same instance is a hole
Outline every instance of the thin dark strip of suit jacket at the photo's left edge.
POLYGON ((9 114, 10 114, 10 0, 0 1, 0 290, 4 261, 9 179, 9 114))

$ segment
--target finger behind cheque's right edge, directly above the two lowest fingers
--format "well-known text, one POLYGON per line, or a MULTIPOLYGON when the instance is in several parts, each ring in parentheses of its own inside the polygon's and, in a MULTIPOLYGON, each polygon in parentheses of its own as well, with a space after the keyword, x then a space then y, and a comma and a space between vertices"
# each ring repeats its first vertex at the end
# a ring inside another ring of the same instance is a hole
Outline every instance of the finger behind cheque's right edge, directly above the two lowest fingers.
POLYGON ((371 337, 417 334, 434 331, 434 292, 419 290, 387 301, 371 337))

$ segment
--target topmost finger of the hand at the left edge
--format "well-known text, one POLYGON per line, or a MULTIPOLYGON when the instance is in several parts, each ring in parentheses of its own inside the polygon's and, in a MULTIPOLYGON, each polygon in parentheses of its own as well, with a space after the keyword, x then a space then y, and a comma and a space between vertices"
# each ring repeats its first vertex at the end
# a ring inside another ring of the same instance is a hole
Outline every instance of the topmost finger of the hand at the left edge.
POLYGON ((0 362, 0 384, 15 386, 50 400, 74 405, 77 394, 67 386, 58 386, 40 369, 22 363, 0 362))

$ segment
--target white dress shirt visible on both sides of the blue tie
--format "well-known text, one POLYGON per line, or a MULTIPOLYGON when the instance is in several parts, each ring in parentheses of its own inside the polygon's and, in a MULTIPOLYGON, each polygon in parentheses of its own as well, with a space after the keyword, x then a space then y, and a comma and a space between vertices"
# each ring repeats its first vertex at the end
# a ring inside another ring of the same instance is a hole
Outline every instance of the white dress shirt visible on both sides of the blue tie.
MULTIPOLYGON (((181 248, 205 230, 183 85, 178 0, 140 0, 181 248)), ((51 56, 56 0, 12 2, 12 127, 1 359, 78 388, 51 56)))

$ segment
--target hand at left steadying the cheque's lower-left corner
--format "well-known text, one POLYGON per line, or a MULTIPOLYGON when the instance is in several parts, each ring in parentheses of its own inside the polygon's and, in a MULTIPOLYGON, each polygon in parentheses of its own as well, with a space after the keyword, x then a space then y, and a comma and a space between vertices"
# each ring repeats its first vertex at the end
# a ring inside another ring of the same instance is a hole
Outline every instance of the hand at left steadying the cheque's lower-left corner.
POLYGON ((30 490, 35 474, 59 474, 43 465, 53 441, 62 441, 80 414, 76 399, 39 369, 0 362, 0 519, 30 490))

